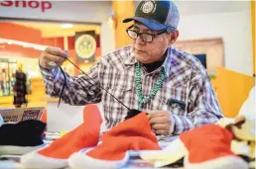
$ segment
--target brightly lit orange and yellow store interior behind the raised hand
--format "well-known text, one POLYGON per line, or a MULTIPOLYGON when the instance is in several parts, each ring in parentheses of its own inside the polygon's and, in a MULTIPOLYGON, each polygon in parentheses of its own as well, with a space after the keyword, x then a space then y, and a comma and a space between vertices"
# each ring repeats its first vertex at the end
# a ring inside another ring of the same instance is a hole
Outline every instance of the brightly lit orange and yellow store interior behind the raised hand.
MULTIPOLYGON (((68 50, 69 59, 83 71, 87 71, 100 56, 100 25, 81 23, 48 23, 48 22, 1 22, 0 33, 0 106, 12 106, 12 86, 14 73, 21 67, 27 75, 28 100, 41 102, 45 95, 45 87, 40 73, 38 58, 48 46, 58 46, 68 50), (75 52, 75 34, 94 32, 96 48, 94 60, 83 62, 77 60, 75 52), (15 41, 14 41, 15 40, 15 41)), ((72 64, 64 62, 63 68, 70 75, 79 74, 72 64)))

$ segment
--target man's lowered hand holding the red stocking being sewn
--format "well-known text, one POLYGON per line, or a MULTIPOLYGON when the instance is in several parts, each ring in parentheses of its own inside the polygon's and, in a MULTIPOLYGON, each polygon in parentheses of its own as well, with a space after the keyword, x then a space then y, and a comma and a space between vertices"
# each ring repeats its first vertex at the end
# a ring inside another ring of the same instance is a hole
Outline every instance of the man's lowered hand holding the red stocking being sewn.
POLYGON ((168 135, 173 131, 174 122, 168 111, 156 111, 148 115, 150 125, 157 134, 168 135))

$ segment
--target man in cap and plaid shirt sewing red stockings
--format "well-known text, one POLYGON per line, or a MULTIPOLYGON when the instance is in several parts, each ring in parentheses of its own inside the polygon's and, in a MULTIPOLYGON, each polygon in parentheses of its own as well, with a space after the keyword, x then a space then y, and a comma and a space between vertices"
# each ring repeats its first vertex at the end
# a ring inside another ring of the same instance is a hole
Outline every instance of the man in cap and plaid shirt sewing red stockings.
POLYGON ((209 77, 199 60, 172 46, 179 37, 179 11, 171 1, 142 1, 126 31, 133 44, 102 56, 87 73, 71 77, 59 68, 67 53, 48 47, 40 56, 47 92, 71 105, 101 102, 106 127, 127 116, 127 109, 149 114, 157 134, 180 134, 222 117, 209 77))

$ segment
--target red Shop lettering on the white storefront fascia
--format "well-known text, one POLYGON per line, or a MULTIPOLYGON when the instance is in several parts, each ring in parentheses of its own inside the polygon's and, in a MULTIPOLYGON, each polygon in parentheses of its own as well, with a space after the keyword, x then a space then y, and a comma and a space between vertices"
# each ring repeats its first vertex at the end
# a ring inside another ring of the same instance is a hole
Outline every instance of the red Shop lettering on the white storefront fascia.
POLYGON ((32 8, 40 9, 41 12, 47 12, 52 8, 52 3, 49 1, 0 1, 1 7, 15 7, 15 8, 32 8))

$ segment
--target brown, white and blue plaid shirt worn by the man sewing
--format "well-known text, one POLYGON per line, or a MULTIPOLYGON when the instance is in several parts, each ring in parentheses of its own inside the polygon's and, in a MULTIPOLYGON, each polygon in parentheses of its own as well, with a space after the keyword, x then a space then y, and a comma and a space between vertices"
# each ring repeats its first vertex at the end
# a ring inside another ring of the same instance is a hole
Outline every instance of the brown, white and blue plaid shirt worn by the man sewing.
MULTIPOLYGON (((102 56, 86 75, 66 76, 66 86, 62 99, 70 105, 86 105, 101 102, 106 127, 114 127, 127 116, 127 109, 113 99, 104 90, 119 99, 130 109, 138 109, 139 101, 135 87, 134 52, 131 46, 124 46, 102 56)), ((174 134, 180 134, 193 127, 215 123, 223 117, 210 79, 200 61, 189 53, 170 46, 167 57, 161 67, 148 73, 142 67, 143 96, 147 96, 155 86, 161 69, 164 68, 166 78, 163 87, 143 110, 169 111, 175 121, 174 134), (170 104, 175 99, 186 104, 186 108, 170 104)), ((60 68, 50 71, 41 68, 48 94, 59 97, 64 84, 64 75, 60 68)))

